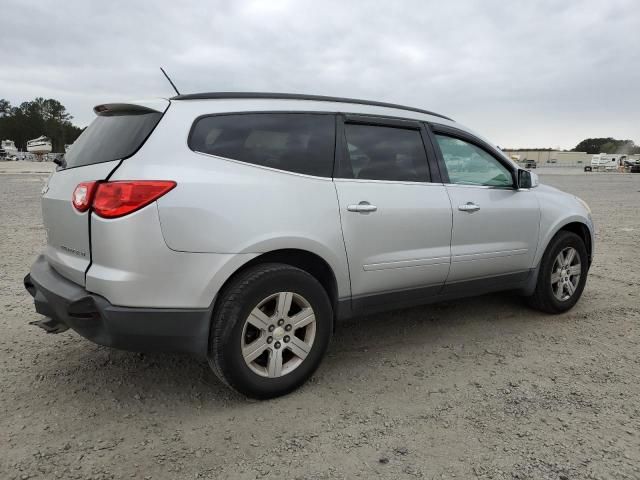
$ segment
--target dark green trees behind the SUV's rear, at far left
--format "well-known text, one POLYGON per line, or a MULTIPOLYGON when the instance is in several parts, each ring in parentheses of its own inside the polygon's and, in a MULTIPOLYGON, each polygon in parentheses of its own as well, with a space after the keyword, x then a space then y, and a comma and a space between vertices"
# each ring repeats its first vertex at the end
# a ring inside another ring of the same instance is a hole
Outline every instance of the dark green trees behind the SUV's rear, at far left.
POLYGON ((0 139, 13 140, 19 150, 26 151, 27 141, 44 135, 51 139, 53 152, 64 152, 82 129, 71 123, 73 117, 58 100, 38 97, 13 107, 0 99, 0 139))

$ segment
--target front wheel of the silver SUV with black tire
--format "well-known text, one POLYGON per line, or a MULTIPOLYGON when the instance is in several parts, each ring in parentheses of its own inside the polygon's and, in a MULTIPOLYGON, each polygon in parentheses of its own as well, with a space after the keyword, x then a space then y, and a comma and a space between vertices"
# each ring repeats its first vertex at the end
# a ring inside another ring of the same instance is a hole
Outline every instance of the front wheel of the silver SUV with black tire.
POLYGON ((587 248, 584 241, 578 235, 568 231, 560 231, 551 240, 547 250, 542 256, 540 263, 540 271, 538 272, 538 280, 536 283, 536 289, 531 297, 528 298, 530 306, 537 310, 541 310, 546 313, 563 313, 573 308, 582 295, 584 285, 587 281, 587 273, 589 271, 589 258, 587 254, 587 248), (575 252, 573 258, 577 258, 580 263, 578 268, 576 264, 570 268, 558 269, 559 255, 563 254, 563 258, 567 258, 565 253, 569 253, 573 250, 575 252), (575 278, 571 275, 571 272, 577 273, 579 270, 580 276, 575 278), (558 273, 565 272, 565 273, 558 273), (552 277, 552 274, 555 276, 552 277), (564 286, 560 283, 554 283, 554 280, 560 278, 562 283, 564 278, 568 278, 571 283, 571 287, 564 282, 564 286), (571 290, 573 292, 569 294, 571 290), (568 296, 567 298, 559 298, 568 296))

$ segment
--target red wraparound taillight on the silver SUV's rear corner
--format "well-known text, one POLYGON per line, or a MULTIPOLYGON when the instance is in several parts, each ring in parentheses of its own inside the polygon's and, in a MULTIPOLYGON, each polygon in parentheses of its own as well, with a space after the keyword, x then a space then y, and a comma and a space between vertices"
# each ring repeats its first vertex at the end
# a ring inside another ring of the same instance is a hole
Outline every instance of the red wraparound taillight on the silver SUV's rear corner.
POLYGON ((76 187, 93 184, 88 191, 89 205, 81 210, 76 205, 76 192, 73 205, 81 212, 89 206, 104 218, 116 218, 128 215, 149 205, 176 186, 176 182, 165 180, 125 180, 116 182, 85 182, 76 187))

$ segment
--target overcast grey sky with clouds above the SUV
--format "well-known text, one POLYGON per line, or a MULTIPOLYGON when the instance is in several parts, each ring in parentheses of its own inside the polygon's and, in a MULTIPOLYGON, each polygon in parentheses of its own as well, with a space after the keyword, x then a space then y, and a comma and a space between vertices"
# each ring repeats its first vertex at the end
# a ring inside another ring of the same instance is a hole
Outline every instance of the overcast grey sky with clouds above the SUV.
POLYGON ((0 98, 277 91, 441 112, 503 147, 640 144, 640 1, 0 2, 0 98))

